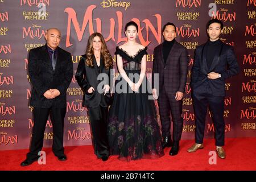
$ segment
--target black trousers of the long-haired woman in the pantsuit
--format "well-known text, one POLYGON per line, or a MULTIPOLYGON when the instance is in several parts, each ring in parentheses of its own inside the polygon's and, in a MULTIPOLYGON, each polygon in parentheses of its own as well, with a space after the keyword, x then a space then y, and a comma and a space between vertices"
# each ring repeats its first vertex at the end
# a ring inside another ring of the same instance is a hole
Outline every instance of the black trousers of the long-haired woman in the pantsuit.
POLYGON ((88 109, 94 154, 98 158, 109 155, 107 130, 108 107, 98 106, 88 109))

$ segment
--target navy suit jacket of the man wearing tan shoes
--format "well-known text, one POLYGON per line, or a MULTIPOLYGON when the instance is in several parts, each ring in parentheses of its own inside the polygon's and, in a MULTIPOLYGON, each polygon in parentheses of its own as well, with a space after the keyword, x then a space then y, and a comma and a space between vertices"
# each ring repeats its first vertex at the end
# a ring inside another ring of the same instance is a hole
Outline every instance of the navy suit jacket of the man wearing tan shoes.
MULTIPOLYGON (((205 43, 206 44, 206 43, 205 43)), ((193 92, 199 88, 205 81, 209 82, 210 89, 213 96, 225 96, 225 80, 226 78, 237 75, 239 72, 239 65, 237 63, 236 55, 232 46, 221 42, 219 50, 214 55, 212 65, 207 66, 205 44, 198 46, 195 50, 195 60, 192 68, 191 87, 193 92), (221 78, 210 80, 207 74, 216 72, 221 74, 221 78)))

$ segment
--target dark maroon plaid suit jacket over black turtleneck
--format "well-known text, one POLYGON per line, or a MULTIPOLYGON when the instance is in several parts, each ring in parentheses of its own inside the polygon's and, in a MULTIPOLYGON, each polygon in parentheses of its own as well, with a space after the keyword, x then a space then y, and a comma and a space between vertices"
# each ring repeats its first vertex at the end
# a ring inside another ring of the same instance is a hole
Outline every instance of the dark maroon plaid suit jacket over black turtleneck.
POLYGON ((168 94, 175 94, 177 91, 184 93, 188 73, 187 49, 175 41, 164 64, 163 43, 155 47, 152 88, 155 86, 154 73, 159 73, 159 92, 164 86, 168 94))

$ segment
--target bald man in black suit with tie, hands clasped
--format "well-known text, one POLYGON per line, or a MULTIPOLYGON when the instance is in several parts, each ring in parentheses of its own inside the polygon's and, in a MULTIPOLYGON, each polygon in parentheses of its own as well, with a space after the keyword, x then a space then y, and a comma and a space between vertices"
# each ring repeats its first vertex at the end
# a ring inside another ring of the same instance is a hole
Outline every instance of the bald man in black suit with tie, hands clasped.
POLYGON ((53 125, 52 151, 59 160, 66 160, 63 147, 66 91, 73 77, 71 53, 59 47, 60 31, 50 28, 46 33, 46 45, 31 49, 28 55, 28 73, 32 91, 34 127, 27 159, 20 166, 28 166, 38 160, 42 150, 44 130, 48 116, 53 125))

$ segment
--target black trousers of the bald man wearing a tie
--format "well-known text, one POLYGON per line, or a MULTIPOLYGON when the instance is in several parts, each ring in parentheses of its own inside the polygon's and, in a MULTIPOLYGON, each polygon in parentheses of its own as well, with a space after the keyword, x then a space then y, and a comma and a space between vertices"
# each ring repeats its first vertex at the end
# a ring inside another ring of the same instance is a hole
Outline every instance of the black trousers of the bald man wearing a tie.
POLYGON ((46 129, 46 123, 49 114, 53 125, 52 151, 56 156, 61 156, 64 154, 63 130, 66 108, 35 107, 33 109, 34 127, 30 143, 30 152, 27 154, 28 160, 34 160, 39 157, 38 152, 43 148, 44 130, 46 129))

